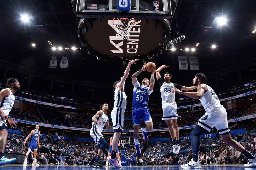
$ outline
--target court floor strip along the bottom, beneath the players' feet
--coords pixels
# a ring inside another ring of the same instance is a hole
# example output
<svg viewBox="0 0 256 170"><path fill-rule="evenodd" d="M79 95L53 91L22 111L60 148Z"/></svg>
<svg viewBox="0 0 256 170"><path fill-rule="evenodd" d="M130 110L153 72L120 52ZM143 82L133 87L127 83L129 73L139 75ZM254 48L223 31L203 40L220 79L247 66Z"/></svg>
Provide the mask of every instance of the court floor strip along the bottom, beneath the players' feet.
<svg viewBox="0 0 256 170"><path fill-rule="evenodd" d="M116 170L113 166L103 167L103 168L92 168L84 165L27 165L23 166L23 164L11 164L11 165L3 165L0 166L0 170ZM171 166L122 166L122 170L181 170L180 166L171 165ZM252 168L244 168L244 165L235 164L235 165L202 165L202 170L256 170L256 167Z"/></svg>

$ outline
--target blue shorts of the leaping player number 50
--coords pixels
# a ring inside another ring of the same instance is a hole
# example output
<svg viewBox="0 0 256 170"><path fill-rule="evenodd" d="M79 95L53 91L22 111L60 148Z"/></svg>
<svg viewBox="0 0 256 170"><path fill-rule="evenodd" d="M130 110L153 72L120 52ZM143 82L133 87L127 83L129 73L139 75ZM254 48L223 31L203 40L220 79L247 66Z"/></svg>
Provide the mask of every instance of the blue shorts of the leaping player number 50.
<svg viewBox="0 0 256 170"><path fill-rule="evenodd" d="M148 107L132 107L133 126L140 125L141 120L145 123L153 122Z"/></svg>

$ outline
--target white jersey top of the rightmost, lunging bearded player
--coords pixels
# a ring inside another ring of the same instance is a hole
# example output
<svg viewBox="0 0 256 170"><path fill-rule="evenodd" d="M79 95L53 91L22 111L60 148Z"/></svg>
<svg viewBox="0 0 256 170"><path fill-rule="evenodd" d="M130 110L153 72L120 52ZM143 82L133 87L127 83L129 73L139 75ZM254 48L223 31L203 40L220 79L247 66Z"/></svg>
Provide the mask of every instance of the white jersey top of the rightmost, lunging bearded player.
<svg viewBox="0 0 256 170"><path fill-rule="evenodd" d="M203 97L201 97L200 102L202 103L204 109L208 113L215 112L216 110L219 110L221 107L223 107L220 104L220 100L217 96L217 94L214 92L214 90L206 85L203 84L208 88L208 91L204 93Z"/></svg>

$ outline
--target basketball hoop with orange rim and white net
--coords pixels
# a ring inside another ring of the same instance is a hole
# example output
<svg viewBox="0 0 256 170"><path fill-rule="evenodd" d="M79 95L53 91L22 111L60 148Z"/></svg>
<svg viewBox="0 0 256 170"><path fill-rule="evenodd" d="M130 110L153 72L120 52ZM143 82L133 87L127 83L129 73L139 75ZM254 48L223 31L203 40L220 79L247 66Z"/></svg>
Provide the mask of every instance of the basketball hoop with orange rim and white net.
<svg viewBox="0 0 256 170"><path fill-rule="evenodd" d="M128 40L130 30L134 24L134 18L113 18L113 25L116 27L116 38L121 40Z"/></svg>

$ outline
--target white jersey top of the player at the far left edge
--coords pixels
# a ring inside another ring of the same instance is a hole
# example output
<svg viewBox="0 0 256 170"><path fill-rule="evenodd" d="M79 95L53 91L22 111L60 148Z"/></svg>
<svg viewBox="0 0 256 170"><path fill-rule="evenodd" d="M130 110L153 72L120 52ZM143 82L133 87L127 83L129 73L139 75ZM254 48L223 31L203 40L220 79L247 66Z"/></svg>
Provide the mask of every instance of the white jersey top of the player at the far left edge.
<svg viewBox="0 0 256 170"><path fill-rule="evenodd" d="M0 103L1 103L0 108L2 109L5 115L9 115L9 112L12 110L12 107L14 105L14 100L15 100L14 94L12 93L11 89L9 90L10 90L10 95L0 100Z"/></svg>

